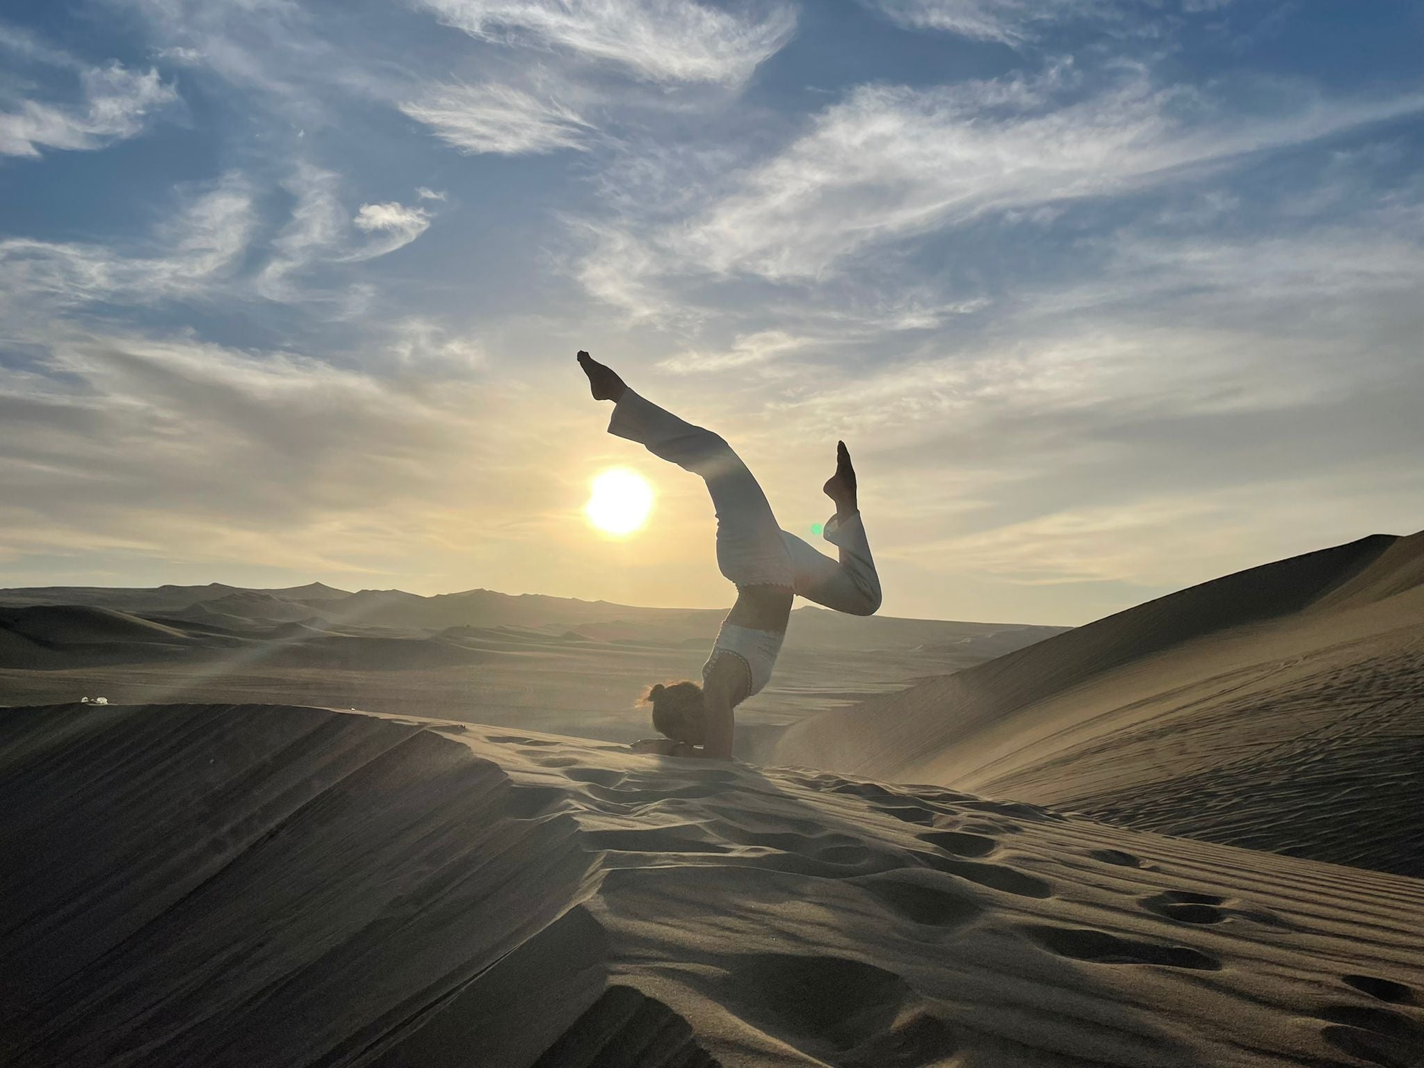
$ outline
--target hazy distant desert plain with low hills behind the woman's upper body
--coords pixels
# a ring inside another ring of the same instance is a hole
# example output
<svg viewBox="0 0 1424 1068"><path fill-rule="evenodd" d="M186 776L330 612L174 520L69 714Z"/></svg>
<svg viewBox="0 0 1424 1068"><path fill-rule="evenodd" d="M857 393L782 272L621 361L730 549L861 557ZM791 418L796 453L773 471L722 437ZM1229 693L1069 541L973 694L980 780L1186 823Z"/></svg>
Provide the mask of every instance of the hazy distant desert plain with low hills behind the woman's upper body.
<svg viewBox="0 0 1424 1068"><path fill-rule="evenodd" d="M696 678L723 615L491 590L352 594L318 582L0 590L0 702L359 703L631 740L649 732L638 695ZM742 706L739 746L1059 631L799 608L776 678Z"/></svg>

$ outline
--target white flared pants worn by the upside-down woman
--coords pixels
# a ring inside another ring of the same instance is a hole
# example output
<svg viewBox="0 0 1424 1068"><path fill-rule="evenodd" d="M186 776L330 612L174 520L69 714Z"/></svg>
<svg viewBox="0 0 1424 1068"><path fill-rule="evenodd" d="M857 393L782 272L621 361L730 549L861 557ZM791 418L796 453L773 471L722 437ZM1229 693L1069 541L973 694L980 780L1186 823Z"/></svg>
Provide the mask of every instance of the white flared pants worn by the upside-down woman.
<svg viewBox="0 0 1424 1068"><path fill-rule="evenodd" d="M880 577L860 513L826 523L823 535L840 560L816 551L776 523L756 478L732 447L711 430L692 426L631 389L614 407L608 433L701 474L716 510L716 562L739 587L775 585L807 601L852 615L880 608Z"/></svg>

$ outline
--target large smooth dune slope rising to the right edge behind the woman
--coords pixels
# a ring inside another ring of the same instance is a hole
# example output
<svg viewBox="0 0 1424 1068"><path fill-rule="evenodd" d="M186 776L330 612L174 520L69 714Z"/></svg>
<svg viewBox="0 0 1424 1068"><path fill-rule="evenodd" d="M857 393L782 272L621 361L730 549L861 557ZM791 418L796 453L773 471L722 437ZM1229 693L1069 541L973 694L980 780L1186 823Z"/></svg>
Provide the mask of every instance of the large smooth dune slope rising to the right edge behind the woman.
<svg viewBox="0 0 1424 1068"><path fill-rule="evenodd" d="M759 758L1424 874L1424 534L1206 582Z"/></svg>

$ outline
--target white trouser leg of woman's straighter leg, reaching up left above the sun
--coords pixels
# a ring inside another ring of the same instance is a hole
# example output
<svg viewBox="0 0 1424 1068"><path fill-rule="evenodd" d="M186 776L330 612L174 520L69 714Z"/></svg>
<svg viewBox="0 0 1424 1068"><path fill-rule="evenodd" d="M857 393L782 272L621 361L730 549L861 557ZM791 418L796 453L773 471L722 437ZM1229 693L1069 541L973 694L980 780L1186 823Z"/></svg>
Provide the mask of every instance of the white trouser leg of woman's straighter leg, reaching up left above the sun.
<svg viewBox="0 0 1424 1068"><path fill-rule="evenodd" d="M701 474L716 510L716 561L739 587L792 587L782 531L762 487L719 436L678 419L631 389L608 422L608 433L638 441L654 456Z"/></svg>

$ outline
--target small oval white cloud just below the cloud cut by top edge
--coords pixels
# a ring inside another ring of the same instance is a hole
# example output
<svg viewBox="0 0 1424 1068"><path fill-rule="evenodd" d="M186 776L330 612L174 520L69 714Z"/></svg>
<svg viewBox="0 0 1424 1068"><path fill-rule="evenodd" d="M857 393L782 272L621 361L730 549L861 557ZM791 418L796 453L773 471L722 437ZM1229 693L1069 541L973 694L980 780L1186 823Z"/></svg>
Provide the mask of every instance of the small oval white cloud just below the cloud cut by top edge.
<svg viewBox="0 0 1424 1068"><path fill-rule="evenodd" d="M400 110L470 155L540 155L584 148L590 128L561 104L498 84L436 85Z"/></svg>

